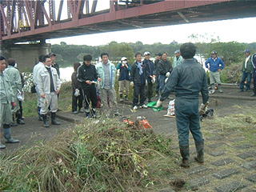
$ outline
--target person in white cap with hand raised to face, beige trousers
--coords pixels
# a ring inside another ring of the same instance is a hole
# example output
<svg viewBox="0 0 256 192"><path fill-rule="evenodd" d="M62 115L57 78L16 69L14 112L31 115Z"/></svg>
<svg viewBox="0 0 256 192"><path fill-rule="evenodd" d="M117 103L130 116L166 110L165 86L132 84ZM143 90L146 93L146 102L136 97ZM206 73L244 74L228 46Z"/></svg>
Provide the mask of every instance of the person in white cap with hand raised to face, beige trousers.
<svg viewBox="0 0 256 192"><path fill-rule="evenodd" d="M118 63L117 70L119 70L119 89L120 102L123 102L123 95L125 95L126 101L128 101L129 87L130 87L130 65L127 62L126 57L121 58L121 62Z"/></svg>

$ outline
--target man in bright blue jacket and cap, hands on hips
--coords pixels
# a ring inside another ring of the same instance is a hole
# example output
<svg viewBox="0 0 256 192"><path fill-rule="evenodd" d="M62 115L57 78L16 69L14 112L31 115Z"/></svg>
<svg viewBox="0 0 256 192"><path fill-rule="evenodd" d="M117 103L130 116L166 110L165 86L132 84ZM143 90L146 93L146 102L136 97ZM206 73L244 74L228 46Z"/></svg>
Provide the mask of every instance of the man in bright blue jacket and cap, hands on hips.
<svg viewBox="0 0 256 192"><path fill-rule="evenodd" d="M205 62L205 65L206 65L206 68L210 70L210 86L212 90L209 93L214 94L215 83L218 85L218 91L220 93L223 93L220 71L223 70L225 64L221 58L217 57L216 50L212 51L211 58L208 58L208 60Z"/></svg>

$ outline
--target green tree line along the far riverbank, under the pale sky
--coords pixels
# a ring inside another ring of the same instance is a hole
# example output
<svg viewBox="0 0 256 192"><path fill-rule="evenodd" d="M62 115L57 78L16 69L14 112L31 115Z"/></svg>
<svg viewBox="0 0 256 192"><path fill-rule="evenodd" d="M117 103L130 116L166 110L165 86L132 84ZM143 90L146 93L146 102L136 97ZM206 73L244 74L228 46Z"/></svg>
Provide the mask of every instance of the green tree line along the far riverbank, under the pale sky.
<svg viewBox="0 0 256 192"><path fill-rule="evenodd" d="M197 36L191 35L191 42L198 47L197 54L202 58L210 58L212 50L218 52L218 57L222 58L226 66L231 63L241 62L244 58L243 50L249 49L251 53L256 52L256 42L240 43L240 42L219 42L212 39L211 42L196 42ZM110 54L111 61L119 61L120 58L126 57L130 63L134 62L134 54L136 52L150 51L151 57L155 54L166 52L169 57L174 57L174 51L178 50L182 43L171 42L170 44L162 44L156 42L154 44L143 44L142 42L126 43L126 42L110 42L104 46L78 46L67 45L66 42L61 42L60 45L54 44L51 47L52 52L57 54L61 66L72 66L74 62L82 61L85 54L91 54L93 58L98 58L102 52Z"/></svg>

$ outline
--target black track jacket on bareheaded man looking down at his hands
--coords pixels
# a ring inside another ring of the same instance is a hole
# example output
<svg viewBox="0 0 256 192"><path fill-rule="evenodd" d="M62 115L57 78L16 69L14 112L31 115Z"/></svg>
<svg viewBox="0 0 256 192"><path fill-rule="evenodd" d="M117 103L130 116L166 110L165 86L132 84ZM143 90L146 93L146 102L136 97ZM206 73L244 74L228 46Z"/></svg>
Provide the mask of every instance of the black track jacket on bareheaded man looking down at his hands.
<svg viewBox="0 0 256 192"><path fill-rule="evenodd" d="M97 81L97 79L98 73L94 65L86 66L84 63L78 68L78 82L81 82L82 89L89 89L91 86L95 86L94 84L88 85L86 81L90 80L92 82Z"/></svg>

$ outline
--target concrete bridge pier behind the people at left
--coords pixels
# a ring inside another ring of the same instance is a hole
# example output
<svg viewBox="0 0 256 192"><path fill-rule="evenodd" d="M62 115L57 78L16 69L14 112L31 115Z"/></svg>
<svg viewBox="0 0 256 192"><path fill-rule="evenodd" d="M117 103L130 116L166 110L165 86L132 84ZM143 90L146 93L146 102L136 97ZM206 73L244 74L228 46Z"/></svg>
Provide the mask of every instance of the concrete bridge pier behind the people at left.
<svg viewBox="0 0 256 192"><path fill-rule="evenodd" d="M14 58L19 70L31 71L40 54L50 53L50 43L40 41L38 43L10 44L0 41L0 55Z"/></svg>

